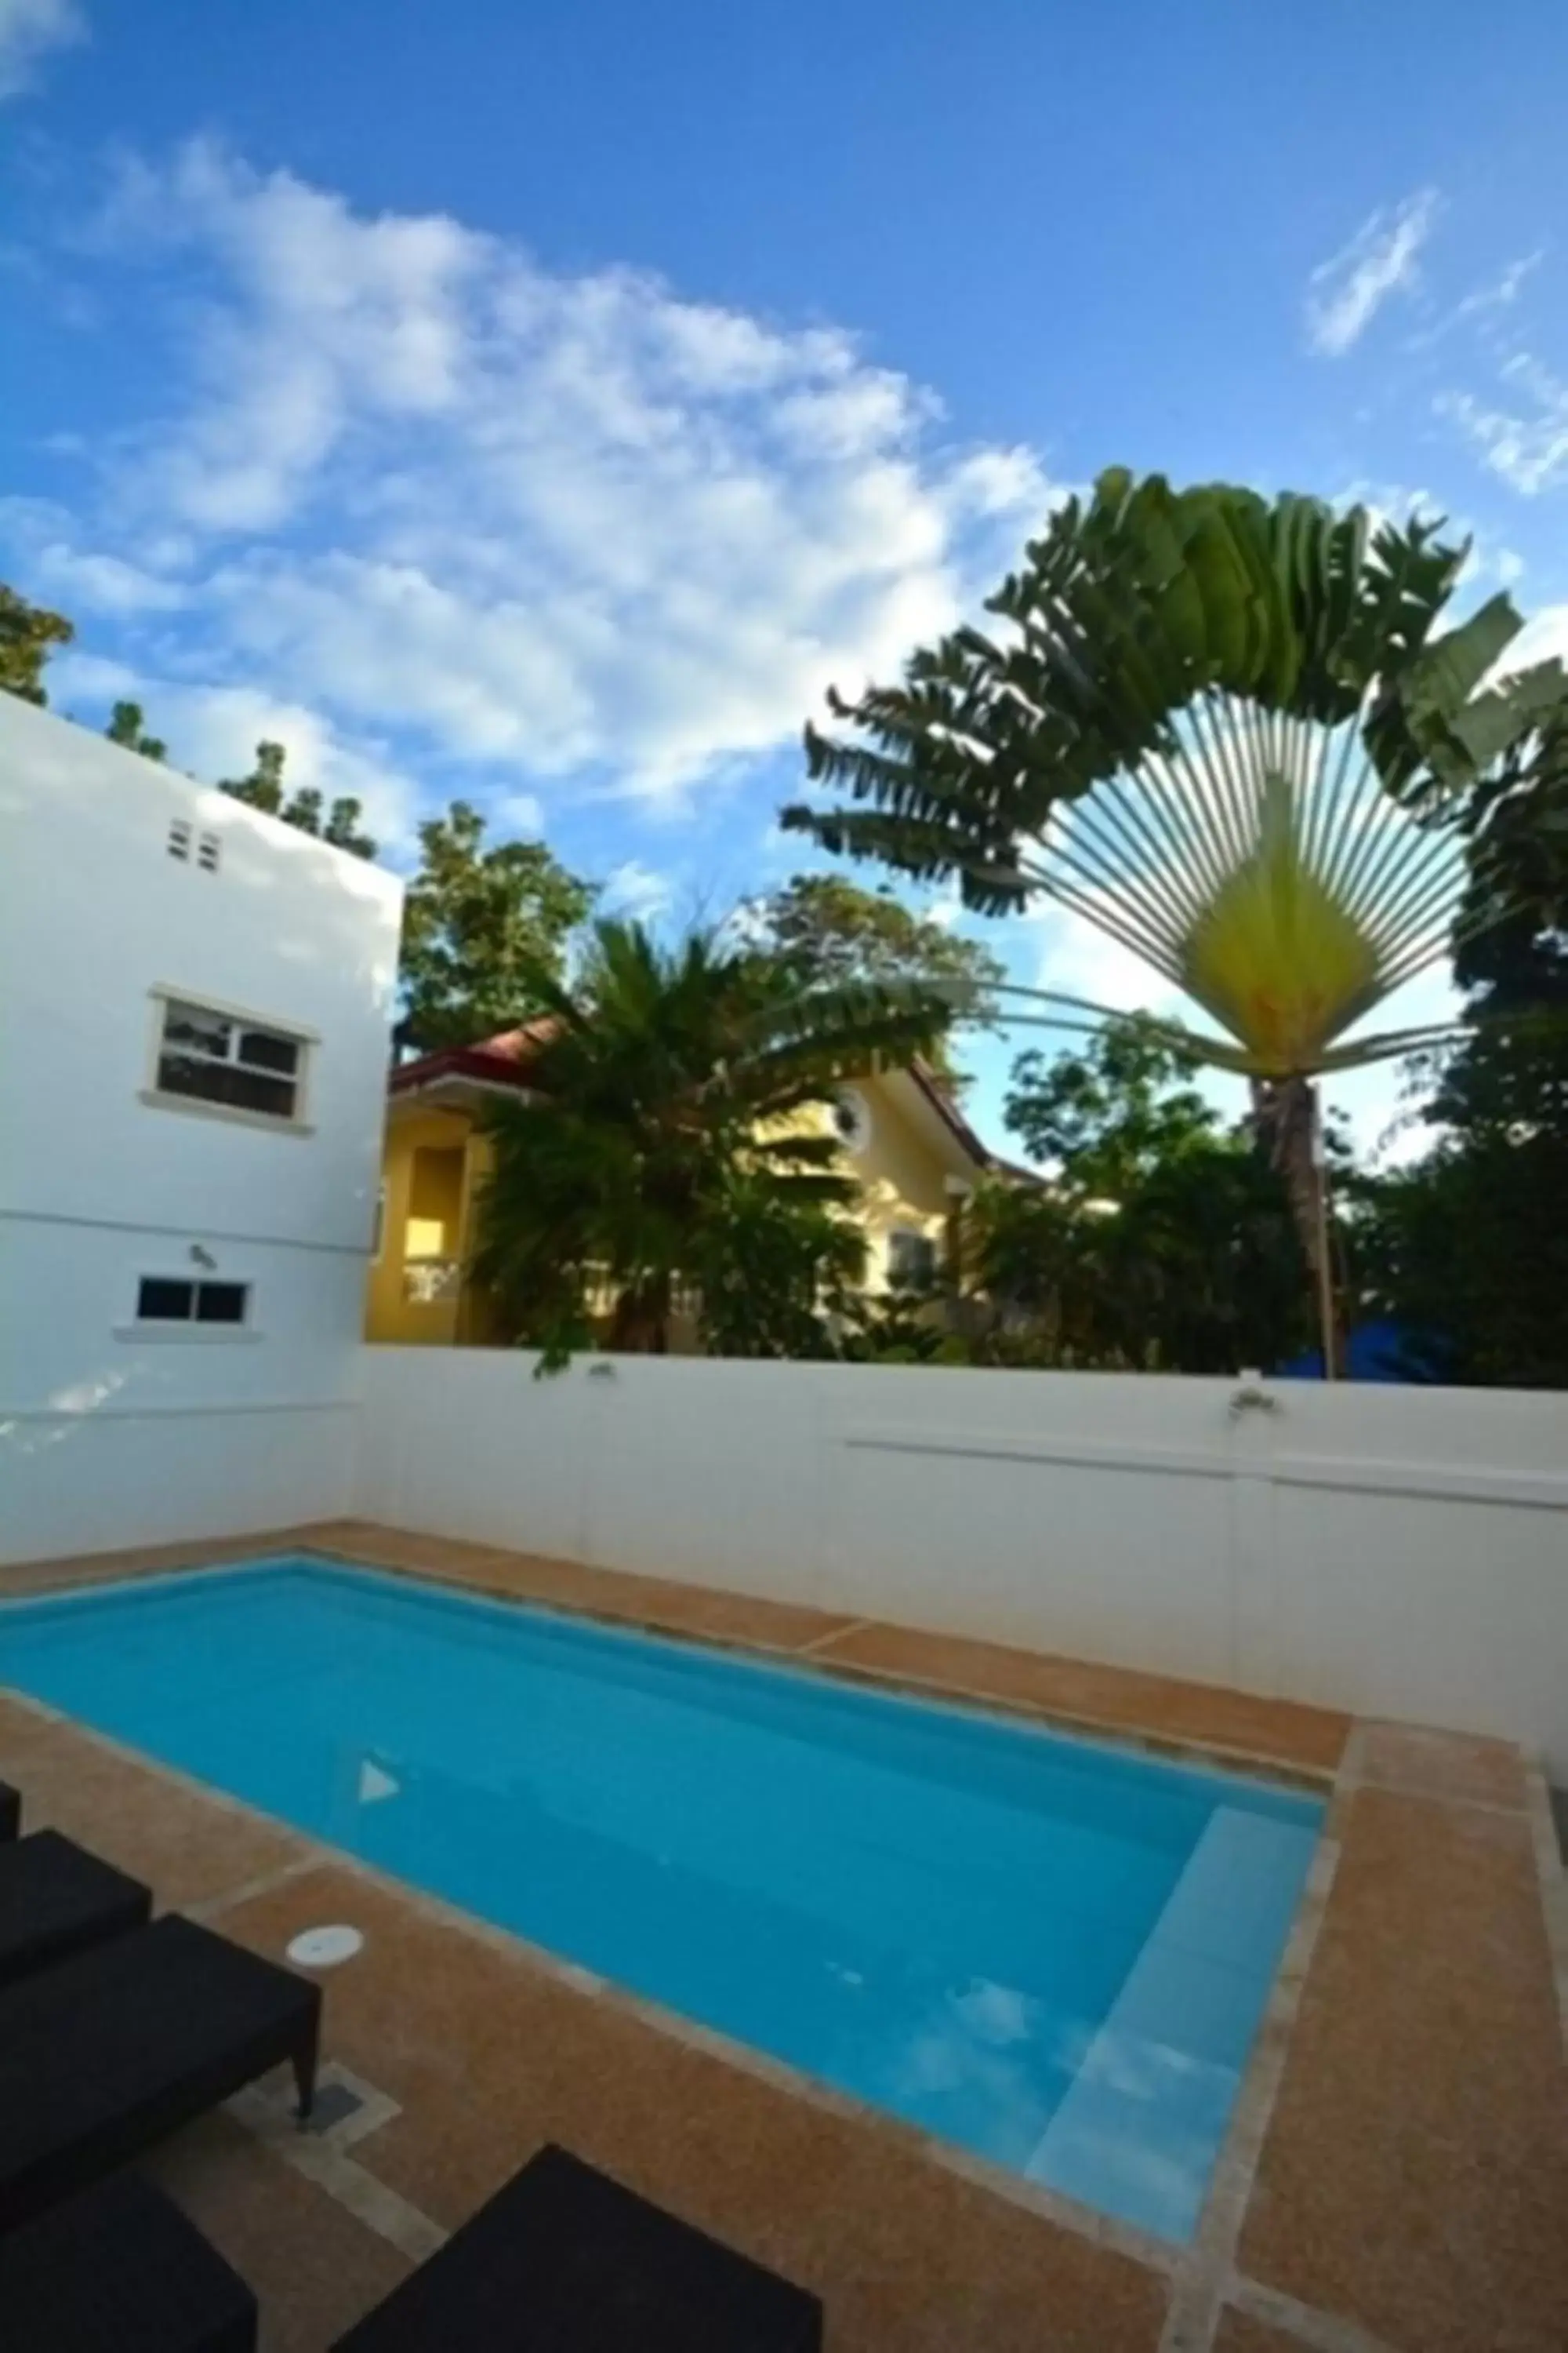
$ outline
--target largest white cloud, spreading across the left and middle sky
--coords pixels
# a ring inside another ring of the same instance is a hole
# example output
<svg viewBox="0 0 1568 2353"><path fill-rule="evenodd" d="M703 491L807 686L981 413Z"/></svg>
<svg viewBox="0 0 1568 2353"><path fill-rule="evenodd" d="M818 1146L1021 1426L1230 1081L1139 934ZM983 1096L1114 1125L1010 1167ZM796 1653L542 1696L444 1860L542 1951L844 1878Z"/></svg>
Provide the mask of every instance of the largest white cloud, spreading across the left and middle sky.
<svg viewBox="0 0 1568 2353"><path fill-rule="evenodd" d="M150 273L176 398L54 560L146 569L155 536L188 668L496 781L684 805L950 626L1053 496L835 327L550 273L212 144L129 169L96 249Z"/></svg>

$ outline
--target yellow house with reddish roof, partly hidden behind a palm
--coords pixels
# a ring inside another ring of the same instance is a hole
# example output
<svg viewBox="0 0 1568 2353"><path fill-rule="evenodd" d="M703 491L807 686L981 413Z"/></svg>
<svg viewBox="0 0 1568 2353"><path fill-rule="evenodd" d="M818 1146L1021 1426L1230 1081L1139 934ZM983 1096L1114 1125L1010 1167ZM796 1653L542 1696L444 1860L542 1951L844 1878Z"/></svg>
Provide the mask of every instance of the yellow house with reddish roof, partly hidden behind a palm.
<svg viewBox="0 0 1568 2353"><path fill-rule="evenodd" d="M508 1031L393 1071L367 1339L482 1346L501 1337L465 1268L489 1167L482 1111L527 1094L527 1031ZM867 1289L940 1273L964 1200L999 1162L924 1064L844 1087L832 1120L860 1184Z"/></svg>

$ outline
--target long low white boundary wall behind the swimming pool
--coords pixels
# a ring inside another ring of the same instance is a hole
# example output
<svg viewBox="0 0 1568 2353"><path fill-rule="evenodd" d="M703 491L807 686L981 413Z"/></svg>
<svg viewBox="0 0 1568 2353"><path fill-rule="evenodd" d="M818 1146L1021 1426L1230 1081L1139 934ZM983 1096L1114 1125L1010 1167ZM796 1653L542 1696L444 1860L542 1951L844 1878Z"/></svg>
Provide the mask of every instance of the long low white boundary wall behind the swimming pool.
<svg viewBox="0 0 1568 2353"><path fill-rule="evenodd" d="M1542 1746L1568 1400L369 1348L357 1508L569 1560Z"/></svg>

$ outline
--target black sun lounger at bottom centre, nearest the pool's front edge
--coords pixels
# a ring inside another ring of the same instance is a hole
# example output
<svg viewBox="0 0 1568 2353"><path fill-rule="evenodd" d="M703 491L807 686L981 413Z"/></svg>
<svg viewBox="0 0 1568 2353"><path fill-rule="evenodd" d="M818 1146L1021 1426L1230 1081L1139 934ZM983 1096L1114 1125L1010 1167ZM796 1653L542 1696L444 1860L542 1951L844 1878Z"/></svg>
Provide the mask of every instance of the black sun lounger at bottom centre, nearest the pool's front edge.
<svg viewBox="0 0 1568 2353"><path fill-rule="evenodd" d="M564 2148L541 2153L336 2353L818 2353L823 2306Z"/></svg>

